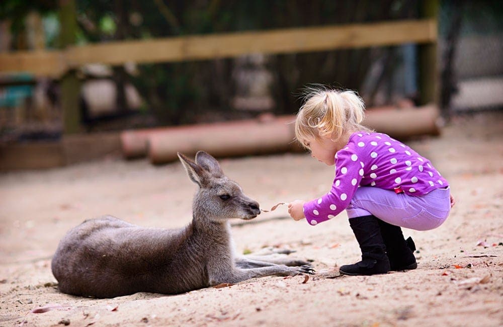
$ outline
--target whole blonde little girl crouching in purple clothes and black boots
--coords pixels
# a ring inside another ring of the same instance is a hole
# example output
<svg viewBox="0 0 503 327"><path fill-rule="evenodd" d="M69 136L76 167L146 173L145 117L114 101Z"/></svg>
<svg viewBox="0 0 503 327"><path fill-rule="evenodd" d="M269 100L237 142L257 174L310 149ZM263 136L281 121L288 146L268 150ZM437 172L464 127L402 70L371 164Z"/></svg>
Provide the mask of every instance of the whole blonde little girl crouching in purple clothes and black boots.
<svg viewBox="0 0 503 327"><path fill-rule="evenodd" d="M288 204L295 220L311 225L346 209L362 250L362 261L345 265L346 275L384 274L417 267L411 238L401 227L440 226L454 199L430 160L407 145L362 126L364 104L352 91L313 90L295 121L297 140L311 156L336 166L330 191Z"/></svg>

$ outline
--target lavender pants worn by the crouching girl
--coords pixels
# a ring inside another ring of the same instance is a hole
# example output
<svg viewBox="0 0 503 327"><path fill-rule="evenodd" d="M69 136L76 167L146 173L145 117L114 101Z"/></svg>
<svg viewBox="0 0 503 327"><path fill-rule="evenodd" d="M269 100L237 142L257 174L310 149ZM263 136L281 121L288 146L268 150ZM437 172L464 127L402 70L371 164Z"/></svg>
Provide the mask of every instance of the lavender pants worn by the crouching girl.
<svg viewBox="0 0 503 327"><path fill-rule="evenodd" d="M392 225L429 230L440 226L451 210L450 190L436 189L422 196L359 187L346 208L348 217L374 215Z"/></svg>

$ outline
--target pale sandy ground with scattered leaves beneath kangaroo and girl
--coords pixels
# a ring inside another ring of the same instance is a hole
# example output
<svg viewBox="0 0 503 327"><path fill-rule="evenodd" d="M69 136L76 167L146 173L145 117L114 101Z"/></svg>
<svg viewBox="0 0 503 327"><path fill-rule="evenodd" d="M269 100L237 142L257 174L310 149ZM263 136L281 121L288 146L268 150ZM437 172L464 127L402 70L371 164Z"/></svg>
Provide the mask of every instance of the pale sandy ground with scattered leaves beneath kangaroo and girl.
<svg viewBox="0 0 503 327"><path fill-rule="evenodd" d="M0 326L12 325L503 325L503 114L456 117L438 138L409 141L451 183L457 204L439 228L412 235L418 268L340 276L358 261L345 213L318 226L287 217L285 206L233 226L238 253L266 246L297 250L317 274L265 277L176 296L137 293L81 298L57 290L50 260L82 220L112 214L154 227L191 219L195 185L179 162L110 157L42 172L0 175ZM307 154L222 159L224 172L263 208L312 199L333 168ZM50 305L52 310L33 313Z"/></svg>

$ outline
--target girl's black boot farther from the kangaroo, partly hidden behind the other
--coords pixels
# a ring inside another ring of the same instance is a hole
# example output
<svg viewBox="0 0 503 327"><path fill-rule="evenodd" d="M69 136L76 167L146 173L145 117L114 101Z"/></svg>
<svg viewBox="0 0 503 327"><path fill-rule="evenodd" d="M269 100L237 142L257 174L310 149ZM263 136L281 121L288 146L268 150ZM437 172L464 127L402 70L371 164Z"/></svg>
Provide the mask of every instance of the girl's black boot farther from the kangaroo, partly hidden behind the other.
<svg viewBox="0 0 503 327"><path fill-rule="evenodd" d="M415 244L411 237L403 239L400 226L377 220L381 228L381 236L386 245L391 270L412 270L417 268L413 251Z"/></svg>

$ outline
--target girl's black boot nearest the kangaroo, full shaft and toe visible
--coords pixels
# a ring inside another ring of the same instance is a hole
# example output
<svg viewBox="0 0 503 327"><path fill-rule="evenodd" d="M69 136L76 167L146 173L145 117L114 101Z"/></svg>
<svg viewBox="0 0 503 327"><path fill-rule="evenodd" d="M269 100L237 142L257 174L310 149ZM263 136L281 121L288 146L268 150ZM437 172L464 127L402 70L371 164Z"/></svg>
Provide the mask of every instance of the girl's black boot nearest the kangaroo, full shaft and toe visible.
<svg viewBox="0 0 503 327"><path fill-rule="evenodd" d="M372 215L349 219L351 229L362 250L362 261L354 265L341 266L339 269L341 274L375 275L386 274L390 270L378 220Z"/></svg>

